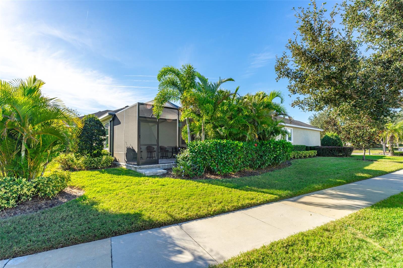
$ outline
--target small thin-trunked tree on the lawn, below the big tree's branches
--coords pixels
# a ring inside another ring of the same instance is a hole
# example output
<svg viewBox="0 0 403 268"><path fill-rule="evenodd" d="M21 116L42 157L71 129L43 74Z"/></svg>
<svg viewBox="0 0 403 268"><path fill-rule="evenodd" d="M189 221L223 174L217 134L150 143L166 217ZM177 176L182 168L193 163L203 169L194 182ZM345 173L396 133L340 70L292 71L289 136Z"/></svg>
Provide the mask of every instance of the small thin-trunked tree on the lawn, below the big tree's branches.
<svg viewBox="0 0 403 268"><path fill-rule="evenodd" d="M380 130L369 116L363 116L359 120L349 120L342 127L342 138L351 142L353 146L362 149L362 160L365 160L367 149L375 146Z"/></svg>

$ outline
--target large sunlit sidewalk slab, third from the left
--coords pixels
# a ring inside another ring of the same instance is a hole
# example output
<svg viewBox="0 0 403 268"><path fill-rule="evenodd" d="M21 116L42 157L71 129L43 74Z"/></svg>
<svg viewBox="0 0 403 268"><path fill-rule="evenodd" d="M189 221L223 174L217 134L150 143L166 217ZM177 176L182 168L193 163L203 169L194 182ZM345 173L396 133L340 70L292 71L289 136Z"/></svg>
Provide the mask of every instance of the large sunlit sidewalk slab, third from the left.
<svg viewBox="0 0 403 268"><path fill-rule="evenodd" d="M180 223L179 226L217 262L290 235L241 211Z"/></svg>

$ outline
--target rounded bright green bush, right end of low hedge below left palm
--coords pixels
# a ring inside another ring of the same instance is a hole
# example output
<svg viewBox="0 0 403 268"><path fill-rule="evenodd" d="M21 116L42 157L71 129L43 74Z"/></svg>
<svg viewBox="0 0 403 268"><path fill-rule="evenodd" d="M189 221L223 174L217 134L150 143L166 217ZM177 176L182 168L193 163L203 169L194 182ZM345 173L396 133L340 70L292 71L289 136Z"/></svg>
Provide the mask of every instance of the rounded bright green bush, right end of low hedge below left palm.
<svg viewBox="0 0 403 268"><path fill-rule="evenodd" d="M37 177L32 180L35 192L39 197L53 198L60 193L70 181L67 171L53 171L46 177Z"/></svg>

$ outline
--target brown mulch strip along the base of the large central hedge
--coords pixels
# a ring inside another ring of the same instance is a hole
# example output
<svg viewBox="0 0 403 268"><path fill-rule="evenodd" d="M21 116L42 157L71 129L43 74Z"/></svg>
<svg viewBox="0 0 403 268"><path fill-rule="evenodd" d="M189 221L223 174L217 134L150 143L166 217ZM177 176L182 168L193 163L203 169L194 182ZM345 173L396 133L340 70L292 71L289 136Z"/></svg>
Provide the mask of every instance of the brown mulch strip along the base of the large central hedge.
<svg viewBox="0 0 403 268"><path fill-rule="evenodd" d="M216 173L206 173L202 176L197 176L193 177L191 179L231 179L231 178L239 178L239 177L247 177L247 176L255 176L255 175L260 175L262 173L274 171L276 169L283 169L285 167L291 166L291 161L285 161L279 165L276 166L270 166L266 167L264 169L256 169L256 170L241 170L238 171L237 173L230 173L230 174L225 174L225 175L218 175ZM182 177L177 177L172 173L172 169L166 169L166 173L163 175L160 175L160 177L170 177L170 178L180 178L183 179Z"/></svg>

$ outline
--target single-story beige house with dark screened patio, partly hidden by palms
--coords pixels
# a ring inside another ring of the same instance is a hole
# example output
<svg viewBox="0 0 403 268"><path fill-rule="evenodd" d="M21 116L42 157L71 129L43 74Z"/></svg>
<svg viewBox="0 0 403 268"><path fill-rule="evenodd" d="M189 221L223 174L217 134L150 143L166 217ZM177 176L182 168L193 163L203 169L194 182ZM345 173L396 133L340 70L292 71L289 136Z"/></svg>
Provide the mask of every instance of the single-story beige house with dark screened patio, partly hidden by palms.
<svg viewBox="0 0 403 268"><path fill-rule="evenodd" d="M157 120L152 112L153 103L135 103L94 113L108 130L106 146L116 164L131 169L145 165L168 168L175 163L174 155L179 148L186 147L185 140L181 138L181 128L185 123L179 120L179 107L171 102L165 103ZM321 129L297 120L281 119L289 132L286 140L292 144L320 145Z"/></svg>

